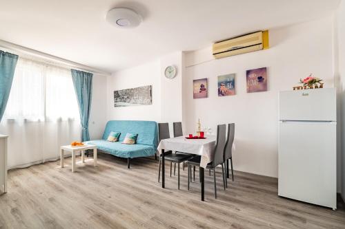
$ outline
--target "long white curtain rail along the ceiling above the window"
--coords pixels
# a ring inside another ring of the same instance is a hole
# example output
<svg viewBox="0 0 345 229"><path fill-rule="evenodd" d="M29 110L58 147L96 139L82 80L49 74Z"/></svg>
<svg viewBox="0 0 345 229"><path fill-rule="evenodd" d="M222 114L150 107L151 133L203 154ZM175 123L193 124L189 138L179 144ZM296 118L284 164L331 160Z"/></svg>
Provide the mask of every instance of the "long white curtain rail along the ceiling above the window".
<svg viewBox="0 0 345 229"><path fill-rule="evenodd" d="M16 44L10 43L8 41L0 40L0 47L3 47L5 49L8 49L8 50L13 51L13 52L18 52L17 54L19 54L19 56L21 56L21 54L22 54L22 55L24 55L24 57L25 57L25 55L28 55L28 56L43 58L46 61L50 61L50 63L52 63L53 65L57 65L60 67L75 68L75 69L83 70L86 72L92 72L94 74L103 75L103 76L110 76L111 75L109 72L104 72L104 71L97 69L97 68L94 68L94 67L89 67L87 65L81 65L81 64L73 62L73 61L68 61L64 58L52 56L50 54L46 54L44 52L39 52L37 50L32 50L28 47L16 45Z"/></svg>

